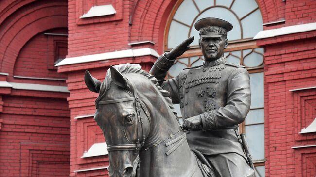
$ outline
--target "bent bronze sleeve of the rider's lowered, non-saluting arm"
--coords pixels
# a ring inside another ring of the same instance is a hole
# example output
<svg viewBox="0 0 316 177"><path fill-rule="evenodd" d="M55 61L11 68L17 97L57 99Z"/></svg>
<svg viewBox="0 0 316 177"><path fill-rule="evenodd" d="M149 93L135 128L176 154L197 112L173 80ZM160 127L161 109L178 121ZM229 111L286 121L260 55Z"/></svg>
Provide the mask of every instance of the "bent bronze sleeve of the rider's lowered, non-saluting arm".
<svg viewBox="0 0 316 177"><path fill-rule="evenodd" d="M228 77L225 107L200 114L203 130L220 129L242 123L250 109L250 78L246 69L238 67Z"/></svg>

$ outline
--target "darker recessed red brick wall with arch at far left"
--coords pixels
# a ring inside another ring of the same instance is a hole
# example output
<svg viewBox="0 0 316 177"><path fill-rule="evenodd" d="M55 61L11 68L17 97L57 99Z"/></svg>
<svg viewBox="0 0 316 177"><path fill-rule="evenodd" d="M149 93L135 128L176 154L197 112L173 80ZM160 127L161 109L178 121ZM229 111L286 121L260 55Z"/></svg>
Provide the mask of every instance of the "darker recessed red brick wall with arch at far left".
<svg viewBox="0 0 316 177"><path fill-rule="evenodd" d="M54 41L67 43L67 36L44 32L67 34L66 0L0 1L0 72L7 73L0 74L1 81L66 86L66 75L49 66ZM64 92L0 88L0 177L69 175L67 97Z"/></svg>

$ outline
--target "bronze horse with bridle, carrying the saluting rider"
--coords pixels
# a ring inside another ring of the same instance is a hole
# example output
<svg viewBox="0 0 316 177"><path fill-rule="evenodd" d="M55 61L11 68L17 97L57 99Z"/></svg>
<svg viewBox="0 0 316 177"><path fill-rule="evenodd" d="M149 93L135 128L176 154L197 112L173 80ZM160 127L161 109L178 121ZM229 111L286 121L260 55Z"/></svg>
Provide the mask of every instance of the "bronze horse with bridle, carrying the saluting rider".
<svg viewBox="0 0 316 177"><path fill-rule="evenodd" d="M94 120L109 152L110 177L211 177L190 151L169 92L139 64L111 66L101 83L88 70L85 83L99 93Z"/></svg>

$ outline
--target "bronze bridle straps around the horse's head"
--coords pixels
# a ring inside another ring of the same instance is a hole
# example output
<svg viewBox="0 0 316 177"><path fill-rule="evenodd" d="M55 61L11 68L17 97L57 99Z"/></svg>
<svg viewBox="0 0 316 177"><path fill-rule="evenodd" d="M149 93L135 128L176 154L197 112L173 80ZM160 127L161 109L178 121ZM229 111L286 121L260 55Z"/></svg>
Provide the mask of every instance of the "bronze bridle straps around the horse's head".
<svg viewBox="0 0 316 177"><path fill-rule="evenodd" d="M147 108L145 107L144 103L140 100L138 94L136 91L133 93L134 97L127 97L127 98L121 98L121 99L112 99L112 100L106 100L106 101L99 101L97 105L100 104L113 104L113 103L121 103L125 101L134 101L136 105L136 114L137 114L137 141L134 144L117 144L117 145L108 145L107 151L122 151L122 150L134 150L135 154L140 151L141 148L145 146L146 136L143 129L143 118L141 117L141 110L144 111L144 113L147 116L147 119L150 123L150 114L148 113ZM142 132L142 142L140 143L139 140L139 125L141 126L141 132Z"/></svg>

